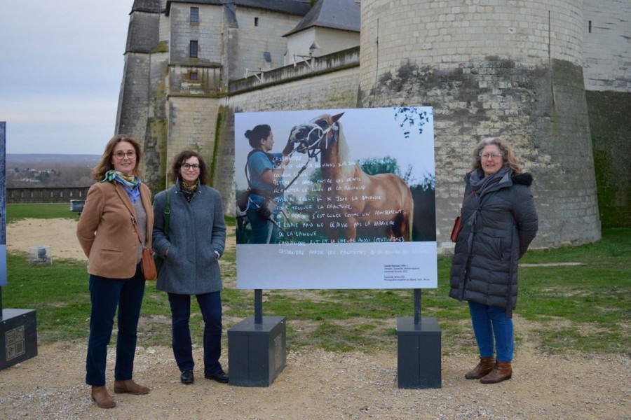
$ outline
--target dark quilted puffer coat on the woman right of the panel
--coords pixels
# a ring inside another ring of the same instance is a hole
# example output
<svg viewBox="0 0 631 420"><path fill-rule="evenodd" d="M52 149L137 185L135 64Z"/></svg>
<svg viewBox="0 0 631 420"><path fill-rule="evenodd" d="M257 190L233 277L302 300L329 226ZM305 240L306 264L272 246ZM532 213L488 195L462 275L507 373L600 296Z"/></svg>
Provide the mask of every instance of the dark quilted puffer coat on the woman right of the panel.
<svg viewBox="0 0 631 420"><path fill-rule="evenodd" d="M538 230L532 176L508 172L481 196L471 194L469 176L449 296L505 308L510 318L517 305L517 262Z"/></svg>

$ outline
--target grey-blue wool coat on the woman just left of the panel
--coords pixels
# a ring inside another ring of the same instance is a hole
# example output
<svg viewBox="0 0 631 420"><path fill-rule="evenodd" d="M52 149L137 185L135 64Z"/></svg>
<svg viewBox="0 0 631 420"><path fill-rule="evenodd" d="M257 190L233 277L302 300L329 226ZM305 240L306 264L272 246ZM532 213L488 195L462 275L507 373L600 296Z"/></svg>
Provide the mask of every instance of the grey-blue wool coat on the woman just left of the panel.
<svg viewBox="0 0 631 420"><path fill-rule="evenodd" d="M226 223L219 192L199 186L186 201L179 181L170 194L169 236L164 235L166 192L154 198L154 252L164 257L156 289L179 295L201 295L222 290L222 276L215 251L226 245Z"/></svg>

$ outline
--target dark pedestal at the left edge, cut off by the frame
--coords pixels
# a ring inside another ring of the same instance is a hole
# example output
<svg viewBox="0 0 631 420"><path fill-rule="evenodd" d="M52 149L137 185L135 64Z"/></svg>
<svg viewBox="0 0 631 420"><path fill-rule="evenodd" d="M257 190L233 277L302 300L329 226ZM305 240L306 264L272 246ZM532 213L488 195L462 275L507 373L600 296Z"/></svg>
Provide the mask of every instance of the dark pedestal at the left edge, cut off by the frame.
<svg viewBox="0 0 631 420"><path fill-rule="evenodd" d="M0 319L0 370L37 356L34 309L4 309Z"/></svg>

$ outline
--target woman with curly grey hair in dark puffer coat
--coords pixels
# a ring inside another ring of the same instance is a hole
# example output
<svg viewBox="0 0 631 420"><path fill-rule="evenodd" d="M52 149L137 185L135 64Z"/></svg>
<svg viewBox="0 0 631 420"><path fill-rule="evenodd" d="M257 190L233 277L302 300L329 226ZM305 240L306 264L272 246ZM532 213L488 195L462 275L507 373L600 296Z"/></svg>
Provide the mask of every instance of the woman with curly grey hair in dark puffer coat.
<svg viewBox="0 0 631 420"><path fill-rule="evenodd" d="M466 379L494 384L513 375L517 262L536 235L538 219L532 176L522 173L506 141L482 139L472 169L465 176L449 296L468 301L480 351L480 363Z"/></svg>

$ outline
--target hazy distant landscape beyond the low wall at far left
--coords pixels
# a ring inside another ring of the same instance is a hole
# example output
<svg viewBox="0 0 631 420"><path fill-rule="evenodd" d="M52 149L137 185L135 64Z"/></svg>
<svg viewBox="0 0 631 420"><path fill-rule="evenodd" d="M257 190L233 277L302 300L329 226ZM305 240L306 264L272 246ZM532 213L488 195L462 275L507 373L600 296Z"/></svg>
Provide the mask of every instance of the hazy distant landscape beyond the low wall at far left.
<svg viewBox="0 0 631 420"><path fill-rule="evenodd" d="M6 188L86 187L100 155L7 153Z"/></svg>

